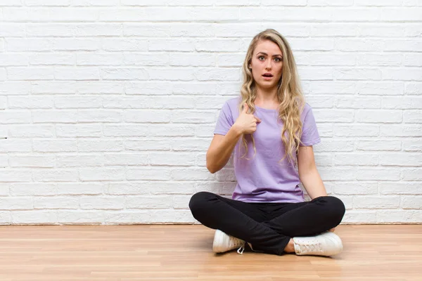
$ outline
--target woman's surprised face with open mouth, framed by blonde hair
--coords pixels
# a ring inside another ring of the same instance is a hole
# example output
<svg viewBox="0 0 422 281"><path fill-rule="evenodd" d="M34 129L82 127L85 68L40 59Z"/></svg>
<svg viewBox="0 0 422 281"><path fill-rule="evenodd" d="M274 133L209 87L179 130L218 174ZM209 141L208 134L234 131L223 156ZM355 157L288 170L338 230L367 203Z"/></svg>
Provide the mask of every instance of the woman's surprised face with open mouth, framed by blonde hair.
<svg viewBox="0 0 422 281"><path fill-rule="evenodd" d="M252 76L258 87L271 89L277 86L281 79L283 68L283 53L279 45L273 41L259 41L250 61Z"/></svg>

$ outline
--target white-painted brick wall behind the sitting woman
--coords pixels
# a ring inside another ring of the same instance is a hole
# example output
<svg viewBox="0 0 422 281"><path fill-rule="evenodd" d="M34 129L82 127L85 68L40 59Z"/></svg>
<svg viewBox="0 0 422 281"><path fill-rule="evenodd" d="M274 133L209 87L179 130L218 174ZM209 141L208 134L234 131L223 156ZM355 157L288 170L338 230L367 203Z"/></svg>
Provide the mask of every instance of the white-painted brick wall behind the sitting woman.
<svg viewBox="0 0 422 281"><path fill-rule="evenodd" d="M193 223L253 35L290 42L343 223L422 223L422 2L0 1L0 224Z"/></svg>

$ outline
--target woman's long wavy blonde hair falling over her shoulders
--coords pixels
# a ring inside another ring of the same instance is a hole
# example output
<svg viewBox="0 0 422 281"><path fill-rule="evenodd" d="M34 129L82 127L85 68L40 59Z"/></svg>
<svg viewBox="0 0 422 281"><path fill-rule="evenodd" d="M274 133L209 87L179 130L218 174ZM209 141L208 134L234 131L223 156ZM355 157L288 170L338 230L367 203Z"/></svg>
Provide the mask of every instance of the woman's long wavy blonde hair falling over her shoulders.
<svg viewBox="0 0 422 281"><path fill-rule="evenodd" d="M296 153L299 149L300 136L302 136L302 122L300 114L305 107L305 97L302 95L300 87L300 79L298 70L296 69L295 58L293 52L288 44L288 41L276 30L268 29L260 32L253 37L250 42L248 51L246 53L245 61L243 62L243 84L241 87L241 103L239 104L239 112L243 110L243 104L247 103L249 113L255 112L255 98L257 98L257 91L255 80L252 76L252 70L249 68L252 60L253 52L258 42L269 40L277 44L283 53L283 68L281 70L281 79L277 86L277 98L279 100L279 119L283 122L283 129L281 130L281 141L283 141L285 148L284 158L288 158L288 162L297 165ZM286 136L287 135L287 136ZM254 156L256 154L255 140L252 138L252 145L254 149ZM244 157L248 153L248 142L245 135L242 136L243 148L245 148ZM295 155L293 156L293 153ZM283 159L280 160L283 161Z"/></svg>

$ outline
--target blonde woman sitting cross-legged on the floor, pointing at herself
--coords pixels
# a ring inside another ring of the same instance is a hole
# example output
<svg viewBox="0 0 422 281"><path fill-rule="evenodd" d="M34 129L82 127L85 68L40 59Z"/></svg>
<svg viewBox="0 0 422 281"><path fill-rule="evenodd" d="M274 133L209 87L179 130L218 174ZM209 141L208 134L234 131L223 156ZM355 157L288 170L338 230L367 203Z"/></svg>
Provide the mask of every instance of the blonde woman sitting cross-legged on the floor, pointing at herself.
<svg viewBox="0 0 422 281"><path fill-rule="evenodd" d="M264 30L251 41L243 63L241 96L222 107L207 151L207 169L222 169L234 152L237 179L232 199L198 192L193 217L216 229L217 253L247 243L252 251L331 256L343 244L333 233L345 214L327 196L312 145L319 143L312 108L305 103L295 59L286 39ZM302 185L311 197L305 202Z"/></svg>

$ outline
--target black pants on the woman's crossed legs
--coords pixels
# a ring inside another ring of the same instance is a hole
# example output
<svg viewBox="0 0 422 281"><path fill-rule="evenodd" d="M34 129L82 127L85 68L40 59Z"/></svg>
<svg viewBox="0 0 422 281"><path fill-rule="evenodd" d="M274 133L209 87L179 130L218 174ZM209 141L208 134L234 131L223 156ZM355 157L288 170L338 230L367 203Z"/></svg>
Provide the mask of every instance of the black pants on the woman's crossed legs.
<svg viewBox="0 0 422 281"><path fill-rule="evenodd" d="M291 237L323 233L338 226L345 214L343 202L332 196L300 203L246 203L198 192L189 208L204 226L249 242L256 251L278 255Z"/></svg>

